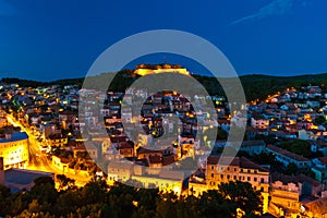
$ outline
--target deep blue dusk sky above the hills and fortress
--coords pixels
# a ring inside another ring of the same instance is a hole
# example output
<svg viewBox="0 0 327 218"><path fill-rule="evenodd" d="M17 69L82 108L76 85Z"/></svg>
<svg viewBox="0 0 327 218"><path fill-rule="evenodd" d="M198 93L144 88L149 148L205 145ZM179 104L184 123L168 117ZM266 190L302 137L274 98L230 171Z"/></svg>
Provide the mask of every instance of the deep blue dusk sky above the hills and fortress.
<svg viewBox="0 0 327 218"><path fill-rule="evenodd" d="M110 45L158 28L206 38L241 75L327 72L326 9L326 0L0 0L0 77L81 77Z"/></svg>

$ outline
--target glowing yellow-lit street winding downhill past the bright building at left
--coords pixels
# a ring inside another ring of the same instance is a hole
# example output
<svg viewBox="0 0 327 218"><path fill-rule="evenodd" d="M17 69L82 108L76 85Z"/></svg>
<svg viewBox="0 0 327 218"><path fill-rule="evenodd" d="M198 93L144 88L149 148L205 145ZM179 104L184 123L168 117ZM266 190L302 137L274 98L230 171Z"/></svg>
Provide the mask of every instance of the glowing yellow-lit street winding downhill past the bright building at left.
<svg viewBox="0 0 327 218"><path fill-rule="evenodd" d="M27 169L38 170L45 172L53 172L55 174L62 174L62 171L58 168L55 168L51 165L51 160L48 160L47 156L43 154L39 149L41 143L37 141L37 136L33 134L33 131L29 128L23 126L17 120L15 120L11 114L7 114L7 120L13 126L20 126L22 131L26 132L28 135L28 154L29 162ZM84 186L89 178L83 175L76 175L72 173L64 173L68 178L75 180L77 186Z"/></svg>

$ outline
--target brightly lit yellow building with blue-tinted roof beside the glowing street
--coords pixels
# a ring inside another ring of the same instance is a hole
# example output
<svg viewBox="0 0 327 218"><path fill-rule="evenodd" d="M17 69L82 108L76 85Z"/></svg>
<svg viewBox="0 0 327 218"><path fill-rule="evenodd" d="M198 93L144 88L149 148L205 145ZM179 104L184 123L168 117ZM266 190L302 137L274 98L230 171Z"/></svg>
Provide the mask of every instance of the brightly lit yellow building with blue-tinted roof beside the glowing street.
<svg viewBox="0 0 327 218"><path fill-rule="evenodd" d="M4 170L26 168L28 164L28 135L25 132L5 134L0 138L0 157L3 157Z"/></svg>

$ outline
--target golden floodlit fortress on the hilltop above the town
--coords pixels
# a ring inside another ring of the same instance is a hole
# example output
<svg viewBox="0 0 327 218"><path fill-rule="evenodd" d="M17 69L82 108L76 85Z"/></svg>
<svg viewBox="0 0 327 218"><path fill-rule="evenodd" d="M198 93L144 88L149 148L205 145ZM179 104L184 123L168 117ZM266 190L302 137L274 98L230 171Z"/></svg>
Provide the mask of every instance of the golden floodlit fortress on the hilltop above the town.
<svg viewBox="0 0 327 218"><path fill-rule="evenodd" d="M190 72L182 68L181 65L172 65L172 64L140 64L136 65L135 74L138 75L149 75L149 74L158 74L158 73L180 73L183 75L190 75Z"/></svg>

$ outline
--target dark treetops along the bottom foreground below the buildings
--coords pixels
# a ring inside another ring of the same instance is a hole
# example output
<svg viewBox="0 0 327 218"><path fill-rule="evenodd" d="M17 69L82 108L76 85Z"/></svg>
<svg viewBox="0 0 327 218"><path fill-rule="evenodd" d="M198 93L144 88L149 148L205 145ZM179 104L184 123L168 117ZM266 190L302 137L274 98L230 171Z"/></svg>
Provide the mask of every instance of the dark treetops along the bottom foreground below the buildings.
<svg viewBox="0 0 327 218"><path fill-rule="evenodd" d="M136 189L121 183L108 186L102 180L76 187L60 179L61 191L51 178L37 178L31 191L11 193L0 184L0 217L110 217L110 218L201 218L256 217L262 196L250 183L229 182L201 197L177 196L158 190Z"/></svg>

